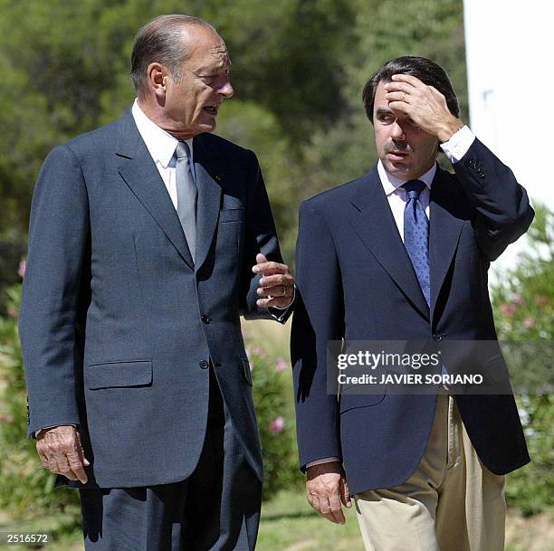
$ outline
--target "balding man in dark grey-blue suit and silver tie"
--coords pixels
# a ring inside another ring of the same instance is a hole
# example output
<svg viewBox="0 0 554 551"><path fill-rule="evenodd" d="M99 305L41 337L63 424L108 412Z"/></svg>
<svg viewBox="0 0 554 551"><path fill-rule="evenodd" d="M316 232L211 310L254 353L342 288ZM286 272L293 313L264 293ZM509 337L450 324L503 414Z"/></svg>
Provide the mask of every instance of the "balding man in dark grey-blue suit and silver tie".
<svg viewBox="0 0 554 551"><path fill-rule="evenodd" d="M239 317L284 322L292 277L255 155L209 134L233 94L224 41L164 15L131 62L132 109L55 147L33 195L29 435L80 488L88 551L252 551L263 466Z"/></svg>

